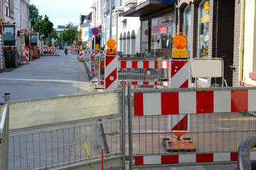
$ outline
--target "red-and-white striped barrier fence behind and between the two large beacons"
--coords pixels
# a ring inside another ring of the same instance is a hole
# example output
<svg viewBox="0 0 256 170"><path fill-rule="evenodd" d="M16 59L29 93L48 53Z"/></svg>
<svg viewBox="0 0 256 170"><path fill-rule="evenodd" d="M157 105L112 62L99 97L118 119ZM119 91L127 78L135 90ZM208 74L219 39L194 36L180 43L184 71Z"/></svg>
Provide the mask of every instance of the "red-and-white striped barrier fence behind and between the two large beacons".
<svg viewBox="0 0 256 170"><path fill-rule="evenodd" d="M95 69L98 84L104 84L105 57L97 57ZM134 86L169 86L169 61L155 58L121 57L118 61L118 79Z"/></svg>

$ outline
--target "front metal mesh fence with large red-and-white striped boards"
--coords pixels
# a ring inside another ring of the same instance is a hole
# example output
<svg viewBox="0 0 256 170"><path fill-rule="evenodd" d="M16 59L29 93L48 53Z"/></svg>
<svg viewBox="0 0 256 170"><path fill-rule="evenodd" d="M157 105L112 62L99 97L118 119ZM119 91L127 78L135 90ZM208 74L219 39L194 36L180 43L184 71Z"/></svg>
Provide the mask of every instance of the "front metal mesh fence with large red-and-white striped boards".
<svg viewBox="0 0 256 170"><path fill-rule="evenodd" d="M129 84L129 169L235 163L240 142L256 135L255 100L256 87L131 89ZM184 114L190 119L181 120ZM170 127L188 132L178 138Z"/></svg>

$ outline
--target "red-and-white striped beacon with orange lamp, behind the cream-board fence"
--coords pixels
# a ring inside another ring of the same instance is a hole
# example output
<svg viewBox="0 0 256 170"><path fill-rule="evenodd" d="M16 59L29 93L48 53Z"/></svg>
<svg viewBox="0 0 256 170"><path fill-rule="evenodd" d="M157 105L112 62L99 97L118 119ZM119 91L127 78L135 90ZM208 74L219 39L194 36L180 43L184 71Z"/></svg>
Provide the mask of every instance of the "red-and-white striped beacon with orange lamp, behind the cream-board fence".
<svg viewBox="0 0 256 170"><path fill-rule="evenodd" d="M118 57L115 50L115 40L107 40L105 55L105 91L114 91L118 87Z"/></svg>

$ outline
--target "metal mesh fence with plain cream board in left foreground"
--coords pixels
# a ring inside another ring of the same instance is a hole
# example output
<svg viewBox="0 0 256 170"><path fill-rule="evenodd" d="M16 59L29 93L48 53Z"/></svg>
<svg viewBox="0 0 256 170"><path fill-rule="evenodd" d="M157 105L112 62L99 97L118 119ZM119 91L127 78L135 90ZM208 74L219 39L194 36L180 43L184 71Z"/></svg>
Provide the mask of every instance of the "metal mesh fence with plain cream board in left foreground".
<svg viewBox="0 0 256 170"><path fill-rule="evenodd" d="M124 167L124 89L10 102L9 112L9 169L90 169L87 153L94 169L102 156L105 169Z"/></svg>

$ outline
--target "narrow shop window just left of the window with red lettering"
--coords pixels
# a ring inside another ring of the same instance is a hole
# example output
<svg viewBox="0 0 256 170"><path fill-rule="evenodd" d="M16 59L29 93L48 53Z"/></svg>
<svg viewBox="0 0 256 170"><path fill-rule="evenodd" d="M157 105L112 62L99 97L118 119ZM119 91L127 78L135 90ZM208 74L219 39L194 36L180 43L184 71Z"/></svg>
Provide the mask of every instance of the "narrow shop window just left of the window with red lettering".
<svg viewBox="0 0 256 170"><path fill-rule="evenodd" d="M148 55L148 42L149 42L149 22L142 21L142 57Z"/></svg>

